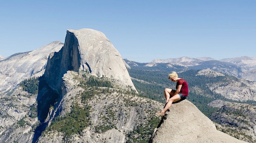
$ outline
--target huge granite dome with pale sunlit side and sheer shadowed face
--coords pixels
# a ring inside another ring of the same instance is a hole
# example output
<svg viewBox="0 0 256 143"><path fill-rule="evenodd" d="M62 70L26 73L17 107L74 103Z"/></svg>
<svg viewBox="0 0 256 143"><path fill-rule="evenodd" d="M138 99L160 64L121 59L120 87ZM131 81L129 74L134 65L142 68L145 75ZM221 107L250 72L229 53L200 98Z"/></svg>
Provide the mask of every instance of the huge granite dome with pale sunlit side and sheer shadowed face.
<svg viewBox="0 0 256 143"><path fill-rule="evenodd" d="M136 90L120 53L103 33L93 29L67 31L63 48L49 57L45 80L60 93L63 74L68 70L89 71L93 76L116 79Z"/></svg>

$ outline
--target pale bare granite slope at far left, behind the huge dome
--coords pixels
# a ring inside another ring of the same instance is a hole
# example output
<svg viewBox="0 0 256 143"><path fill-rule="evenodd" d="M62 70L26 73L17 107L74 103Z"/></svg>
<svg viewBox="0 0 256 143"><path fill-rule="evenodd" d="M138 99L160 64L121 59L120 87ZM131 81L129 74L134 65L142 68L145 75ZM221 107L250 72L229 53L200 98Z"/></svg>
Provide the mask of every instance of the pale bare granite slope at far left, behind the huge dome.
<svg viewBox="0 0 256 143"><path fill-rule="evenodd" d="M0 92L10 92L31 76L42 76L50 53L59 51L63 43L52 42L31 52L17 53L0 61Z"/></svg>

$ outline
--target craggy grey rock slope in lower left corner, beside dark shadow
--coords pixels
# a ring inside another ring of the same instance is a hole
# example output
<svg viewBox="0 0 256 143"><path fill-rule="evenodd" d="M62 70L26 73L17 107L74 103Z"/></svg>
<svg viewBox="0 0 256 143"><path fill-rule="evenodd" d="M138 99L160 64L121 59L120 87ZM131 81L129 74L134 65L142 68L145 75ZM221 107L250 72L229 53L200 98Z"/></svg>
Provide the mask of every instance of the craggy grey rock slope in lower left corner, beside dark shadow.
<svg viewBox="0 0 256 143"><path fill-rule="evenodd" d="M17 140L25 143L33 138L33 126L36 126L36 96L17 88L8 96L0 96L0 143L13 143Z"/></svg>

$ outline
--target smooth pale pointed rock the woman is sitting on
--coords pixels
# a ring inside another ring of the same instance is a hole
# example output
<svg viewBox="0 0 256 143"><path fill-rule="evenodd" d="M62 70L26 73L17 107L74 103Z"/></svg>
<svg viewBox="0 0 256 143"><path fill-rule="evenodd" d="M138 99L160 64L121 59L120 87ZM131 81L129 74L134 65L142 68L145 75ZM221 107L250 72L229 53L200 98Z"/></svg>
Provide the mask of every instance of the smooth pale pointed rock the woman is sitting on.
<svg viewBox="0 0 256 143"><path fill-rule="evenodd" d="M173 104L151 136L150 143L245 143L218 131L197 107L184 100Z"/></svg>

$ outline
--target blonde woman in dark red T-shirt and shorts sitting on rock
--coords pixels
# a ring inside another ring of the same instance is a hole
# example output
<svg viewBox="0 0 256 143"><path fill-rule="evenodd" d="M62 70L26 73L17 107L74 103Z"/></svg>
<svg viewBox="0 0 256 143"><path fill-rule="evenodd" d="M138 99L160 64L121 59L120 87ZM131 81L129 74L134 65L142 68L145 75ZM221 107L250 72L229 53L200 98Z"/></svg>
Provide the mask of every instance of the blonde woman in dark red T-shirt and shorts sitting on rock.
<svg viewBox="0 0 256 143"><path fill-rule="evenodd" d="M177 82L176 90L165 88L166 103L163 110L160 113L156 113L157 115L165 115L165 112L171 107L172 103L178 103L188 97L188 84L185 80L178 78L178 74L176 72L169 74L169 80Z"/></svg>

